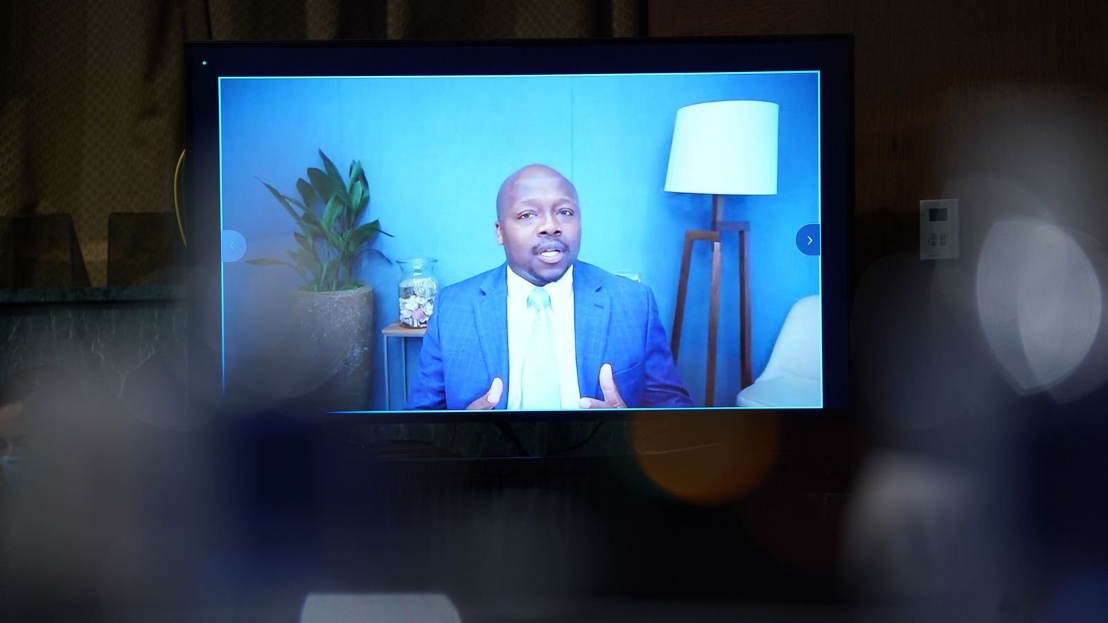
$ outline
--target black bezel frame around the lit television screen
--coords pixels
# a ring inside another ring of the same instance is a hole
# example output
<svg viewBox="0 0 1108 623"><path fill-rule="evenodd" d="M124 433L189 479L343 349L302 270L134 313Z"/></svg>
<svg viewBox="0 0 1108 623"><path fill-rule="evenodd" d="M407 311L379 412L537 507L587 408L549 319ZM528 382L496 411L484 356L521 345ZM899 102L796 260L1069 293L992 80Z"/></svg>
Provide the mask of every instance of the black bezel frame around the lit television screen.
<svg viewBox="0 0 1108 623"><path fill-rule="evenodd" d="M510 51L512 53L505 53ZM676 52L676 53L675 53ZM730 52L721 54L714 52ZM736 52L741 52L735 55ZM667 55L668 53L668 55ZM848 415L853 408L849 356L849 308L853 299L854 221L854 39L852 34L618 38L618 39L515 39L461 41L188 41L185 43L185 163L182 172L183 222L187 236L188 385L194 405L212 404L211 391L222 387L222 354L207 344L217 336L203 335L206 325L196 321L214 310L203 289L218 274L220 232L218 200L205 208L197 205L199 180L218 180L218 159L198 154L218 151L211 144L218 131L197 134L205 124L218 126L214 90L219 75L322 75L297 68L326 67L327 75L472 75L542 73L667 73L712 71L818 70L820 80L820 222L821 294L823 306L823 390L821 408L693 408L604 409L565 411L368 411L363 413L310 412L310 404L291 401L286 409L325 420L372 423L417 422L515 422L570 420L625 420L671 418L676 413L736 417L776 412L780 415ZM201 64L202 62L208 64ZM230 65L237 71L216 71ZM350 71L341 71L350 68ZM433 69L432 69L433 68ZM203 74L212 78L204 82ZM198 74L202 76L198 78ZM205 103L204 99L207 98ZM207 141L205 141L207 139ZM212 183L209 182L209 185ZM215 183L215 192L218 184ZM208 193L212 190L207 188ZM218 195L216 195L218 196ZM832 200L832 201L828 201ZM212 214L214 213L214 215ZM828 242L831 245L828 245ZM830 297L828 295L831 295ZM206 305L205 305L206 304ZM829 325L833 330L827 330ZM215 372L213 370L219 370ZM831 388L833 406L827 406ZM205 394L206 392L206 394ZM225 409L224 409L225 410Z"/></svg>

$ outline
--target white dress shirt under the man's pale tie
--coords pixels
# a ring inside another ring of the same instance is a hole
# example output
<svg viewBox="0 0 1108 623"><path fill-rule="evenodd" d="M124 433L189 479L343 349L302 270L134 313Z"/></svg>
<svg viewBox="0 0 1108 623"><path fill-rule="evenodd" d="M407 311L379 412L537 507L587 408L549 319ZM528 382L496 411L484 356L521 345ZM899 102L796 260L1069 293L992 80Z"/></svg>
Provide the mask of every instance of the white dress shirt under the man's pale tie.
<svg viewBox="0 0 1108 623"><path fill-rule="evenodd" d="M523 351L531 336L534 317L527 312L527 296L535 285L507 270L507 408L519 409L523 400ZM562 278L543 286L551 296L551 319L557 340L557 370L562 386L562 408L577 409L581 388L577 387L577 340L573 320L573 266ZM555 374L555 370L551 370Z"/></svg>

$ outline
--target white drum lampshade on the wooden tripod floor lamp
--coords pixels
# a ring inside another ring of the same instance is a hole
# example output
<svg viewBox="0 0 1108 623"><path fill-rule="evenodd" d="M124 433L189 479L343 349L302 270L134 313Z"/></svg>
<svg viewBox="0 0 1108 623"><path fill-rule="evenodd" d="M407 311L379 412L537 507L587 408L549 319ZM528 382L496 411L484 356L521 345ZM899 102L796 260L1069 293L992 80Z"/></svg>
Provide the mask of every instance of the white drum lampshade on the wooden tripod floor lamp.
<svg viewBox="0 0 1108 623"><path fill-rule="evenodd" d="M693 104L677 111L666 191L714 195L777 194L777 120L772 102Z"/></svg>

